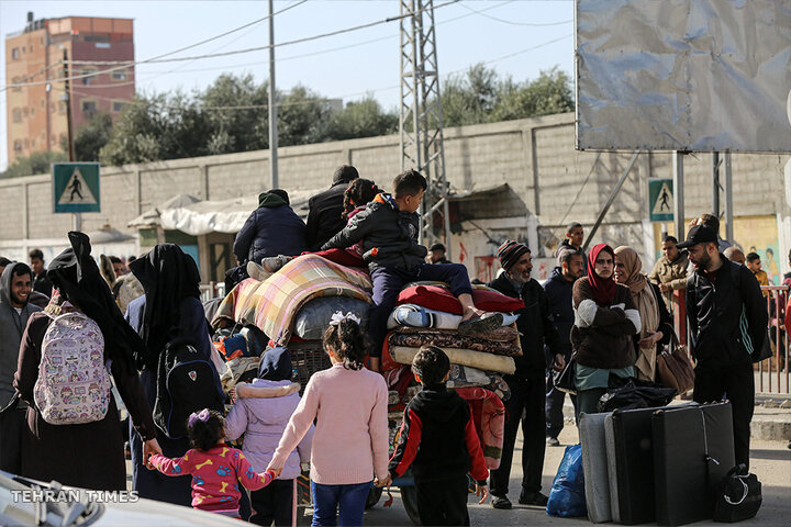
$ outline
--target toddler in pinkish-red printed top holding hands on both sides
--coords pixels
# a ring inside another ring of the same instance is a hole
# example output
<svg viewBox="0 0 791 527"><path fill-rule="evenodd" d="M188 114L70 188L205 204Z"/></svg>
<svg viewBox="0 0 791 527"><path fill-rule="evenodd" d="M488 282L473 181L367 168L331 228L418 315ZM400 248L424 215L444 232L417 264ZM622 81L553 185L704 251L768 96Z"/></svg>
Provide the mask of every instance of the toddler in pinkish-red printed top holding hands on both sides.
<svg viewBox="0 0 791 527"><path fill-rule="evenodd" d="M238 502L245 489L257 491L275 479L275 472L257 473L241 450L226 447L219 412L204 408L189 418L192 448L181 458L151 457L149 469L165 475L192 474L192 508L239 518Z"/></svg>

